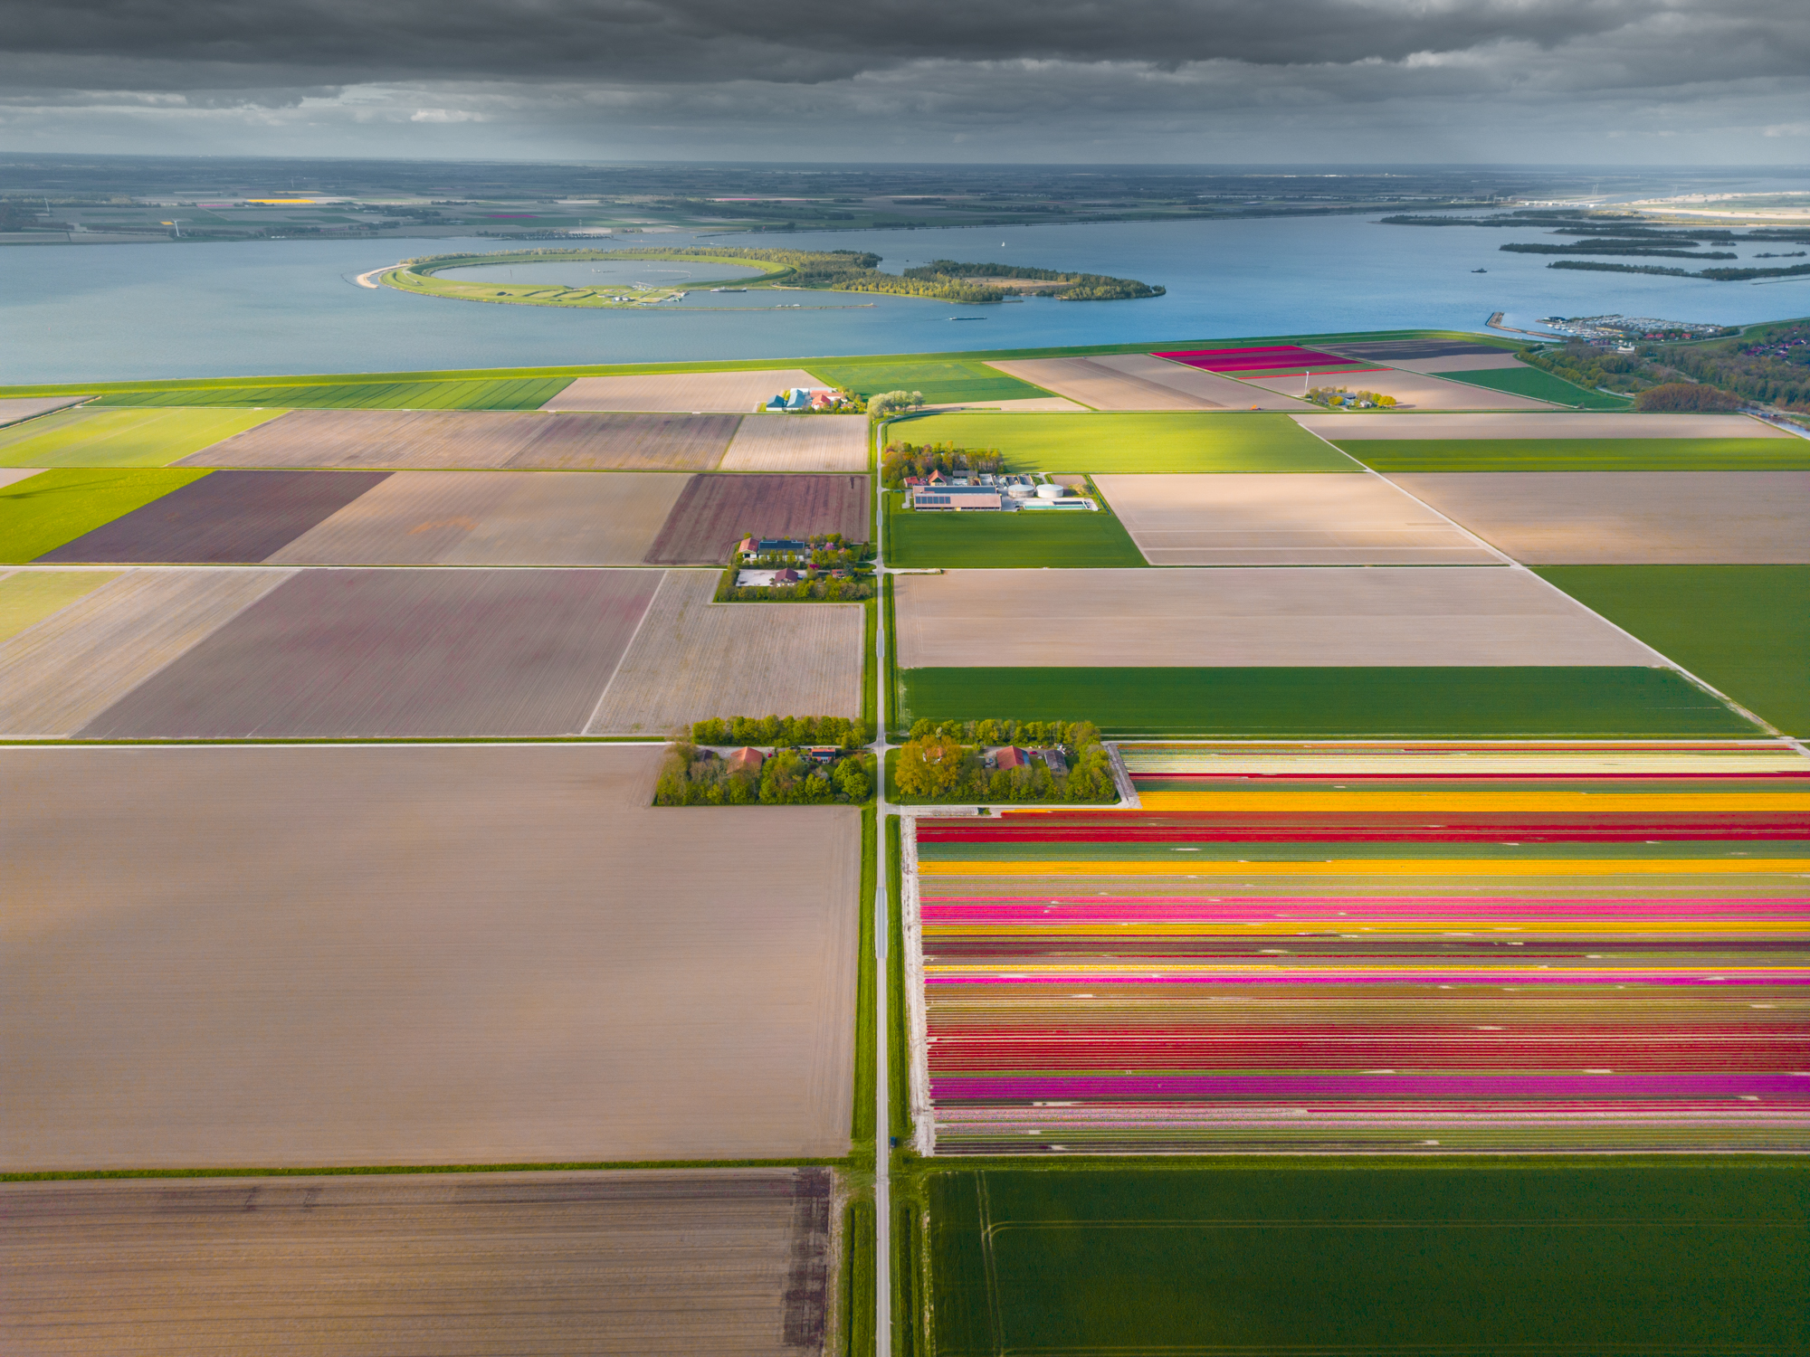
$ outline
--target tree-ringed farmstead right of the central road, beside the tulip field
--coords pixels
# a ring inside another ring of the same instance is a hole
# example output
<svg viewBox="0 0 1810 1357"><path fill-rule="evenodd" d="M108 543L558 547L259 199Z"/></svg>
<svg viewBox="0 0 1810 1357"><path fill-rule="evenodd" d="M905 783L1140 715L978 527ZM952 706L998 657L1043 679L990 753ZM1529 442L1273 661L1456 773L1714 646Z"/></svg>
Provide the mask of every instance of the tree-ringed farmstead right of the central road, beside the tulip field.
<svg viewBox="0 0 1810 1357"><path fill-rule="evenodd" d="M887 753L887 798L901 805L1111 803L1119 785L1093 722L919 720Z"/></svg>

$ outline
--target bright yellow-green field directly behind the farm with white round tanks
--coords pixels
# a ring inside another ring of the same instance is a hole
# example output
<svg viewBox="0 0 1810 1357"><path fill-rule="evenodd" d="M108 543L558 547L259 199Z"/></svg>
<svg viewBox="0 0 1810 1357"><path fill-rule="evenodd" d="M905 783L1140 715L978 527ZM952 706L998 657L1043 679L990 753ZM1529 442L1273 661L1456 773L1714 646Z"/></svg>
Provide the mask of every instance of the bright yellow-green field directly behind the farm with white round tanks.
<svg viewBox="0 0 1810 1357"><path fill-rule="evenodd" d="M927 414L889 441L997 447L1008 470L1358 470L1287 414Z"/></svg>

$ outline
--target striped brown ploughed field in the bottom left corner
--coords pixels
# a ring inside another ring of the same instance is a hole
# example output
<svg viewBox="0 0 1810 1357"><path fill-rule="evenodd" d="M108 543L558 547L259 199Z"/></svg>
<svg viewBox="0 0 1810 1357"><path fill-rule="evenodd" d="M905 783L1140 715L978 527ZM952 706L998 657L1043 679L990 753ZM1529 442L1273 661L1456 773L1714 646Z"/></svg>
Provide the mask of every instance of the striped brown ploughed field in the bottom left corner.
<svg viewBox="0 0 1810 1357"><path fill-rule="evenodd" d="M0 1185L14 1353L814 1353L827 1169Z"/></svg>

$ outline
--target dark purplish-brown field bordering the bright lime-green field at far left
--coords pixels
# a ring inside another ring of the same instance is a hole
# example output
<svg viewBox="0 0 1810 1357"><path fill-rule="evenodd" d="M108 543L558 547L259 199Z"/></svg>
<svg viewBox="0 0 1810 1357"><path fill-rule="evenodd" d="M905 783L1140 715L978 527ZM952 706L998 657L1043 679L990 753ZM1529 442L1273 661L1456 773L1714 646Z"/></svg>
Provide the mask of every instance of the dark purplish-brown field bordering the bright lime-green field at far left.
<svg viewBox="0 0 1810 1357"><path fill-rule="evenodd" d="M38 563L257 565L387 478L387 470L215 470Z"/></svg>

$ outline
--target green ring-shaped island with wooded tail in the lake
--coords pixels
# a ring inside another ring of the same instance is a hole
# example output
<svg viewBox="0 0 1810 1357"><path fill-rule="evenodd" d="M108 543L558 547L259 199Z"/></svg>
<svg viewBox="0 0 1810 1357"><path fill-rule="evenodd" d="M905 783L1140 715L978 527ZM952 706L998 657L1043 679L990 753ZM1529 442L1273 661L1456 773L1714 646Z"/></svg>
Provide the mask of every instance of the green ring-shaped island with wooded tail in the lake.
<svg viewBox="0 0 1810 1357"><path fill-rule="evenodd" d="M749 264L766 266L755 277L697 279L684 286L670 288L634 288L628 284L601 284L595 288L570 288L565 284L532 282L487 282L476 279L440 277L454 268L491 268L501 264L552 264L552 262L594 262L594 261L681 261L699 264L724 264L728 268L746 268ZM594 306L594 308L634 308L652 306L670 297L699 291L702 288L735 286L748 289L766 288L809 288L827 291L885 293L891 297L923 297L939 302L986 304L1003 302L1019 291L1041 291L1028 284L1017 286L1014 280L1034 277L1061 279L1062 286L1055 295L1066 300L1120 300L1131 297L1157 297L1162 288L1149 288L1133 279L1110 279L1095 273L1052 273L1048 270L1012 270L1008 266L974 264L976 270L1005 268L1003 282L974 282L938 266L938 261L925 268L900 273L881 273L880 255L862 250L755 250L748 246L673 246L639 250L503 250L498 253L460 253L425 255L405 259L396 268L382 275L382 282L398 291L422 293L431 297L456 297L469 302L514 302L521 306ZM956 268L970 268L957 264Z"/></svg>

